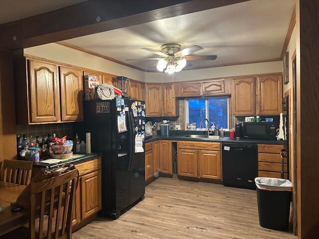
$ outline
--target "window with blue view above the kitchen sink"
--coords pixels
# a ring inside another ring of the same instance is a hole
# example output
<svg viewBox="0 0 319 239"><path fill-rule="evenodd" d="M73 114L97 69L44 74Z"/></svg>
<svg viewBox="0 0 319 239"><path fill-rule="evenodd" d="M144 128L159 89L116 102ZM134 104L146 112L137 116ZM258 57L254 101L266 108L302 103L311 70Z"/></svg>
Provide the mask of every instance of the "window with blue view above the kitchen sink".
<svg viewBox="0 0 319 239"><path fill-rule="evenodd" d="M200 121L204 118L210 123L214 121L217 128L228 128L228 97L185 99L185 125L196 123L196 128L199 128ZM203 121L202 128L206 128L206 120Z"/></svg>

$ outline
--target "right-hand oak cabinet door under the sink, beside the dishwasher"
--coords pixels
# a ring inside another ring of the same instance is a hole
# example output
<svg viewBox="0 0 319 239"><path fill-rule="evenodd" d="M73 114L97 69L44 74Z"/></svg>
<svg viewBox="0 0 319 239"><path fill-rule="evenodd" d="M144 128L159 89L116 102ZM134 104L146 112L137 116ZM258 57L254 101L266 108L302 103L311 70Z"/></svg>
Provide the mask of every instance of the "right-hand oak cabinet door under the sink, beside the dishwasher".
<svg viewBox="0 0 319 239"><path fill-rule="evenodd" d="M200 178L221 179L219 151L198 151L198 165Z"/></svg>

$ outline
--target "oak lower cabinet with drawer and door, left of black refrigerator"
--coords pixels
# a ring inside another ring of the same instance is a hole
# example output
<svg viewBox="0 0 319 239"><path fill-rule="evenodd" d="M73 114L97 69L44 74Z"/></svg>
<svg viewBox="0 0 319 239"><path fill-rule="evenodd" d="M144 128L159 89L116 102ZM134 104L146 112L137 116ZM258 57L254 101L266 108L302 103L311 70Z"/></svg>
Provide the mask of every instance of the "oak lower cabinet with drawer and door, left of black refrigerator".
<svg viewBox="0 0 319 239"><path fill-rule="evenodd" d="M101 157L75 166L80 178L73 203L73 227L102 209Z"/></svg>

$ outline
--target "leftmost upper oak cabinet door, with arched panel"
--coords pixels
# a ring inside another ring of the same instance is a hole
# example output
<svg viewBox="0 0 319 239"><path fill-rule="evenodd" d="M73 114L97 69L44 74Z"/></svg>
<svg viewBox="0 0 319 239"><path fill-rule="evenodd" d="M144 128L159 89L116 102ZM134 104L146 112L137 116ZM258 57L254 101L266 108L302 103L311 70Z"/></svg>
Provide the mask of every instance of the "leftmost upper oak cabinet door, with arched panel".
<svg viewBox="0 0 319 239"><path fill-rule="evenodd" d="M29 60L31 122L60 121L60 90L55 64ZM19 102L23 104L23 102Z"/></svg>

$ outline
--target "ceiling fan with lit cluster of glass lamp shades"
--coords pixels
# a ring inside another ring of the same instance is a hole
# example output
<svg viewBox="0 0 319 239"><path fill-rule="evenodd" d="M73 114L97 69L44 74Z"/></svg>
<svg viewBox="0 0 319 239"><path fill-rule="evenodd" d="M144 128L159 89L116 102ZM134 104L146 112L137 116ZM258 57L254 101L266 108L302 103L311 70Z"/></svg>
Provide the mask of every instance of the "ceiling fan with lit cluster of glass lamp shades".
<svg viewBox="0 0 319 239"><path fill-rule="evenodd" d="M198 61L198 60L215 60L216 55L204 55L197 56L191 55L192 53L203 49L201 46L192 45L184 49L180 49L181 46L176 43L168 43L161 45L160 51L153 50L150 48L142 48L144 50L153 52L160 57L157 58L143 58L143 59L128 59L129 60L158 60L156 64L157 69L165 73L174 73L181 71L185 66L187 61ZM191 65L188 65L188 67Z"/></svg>

